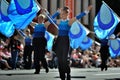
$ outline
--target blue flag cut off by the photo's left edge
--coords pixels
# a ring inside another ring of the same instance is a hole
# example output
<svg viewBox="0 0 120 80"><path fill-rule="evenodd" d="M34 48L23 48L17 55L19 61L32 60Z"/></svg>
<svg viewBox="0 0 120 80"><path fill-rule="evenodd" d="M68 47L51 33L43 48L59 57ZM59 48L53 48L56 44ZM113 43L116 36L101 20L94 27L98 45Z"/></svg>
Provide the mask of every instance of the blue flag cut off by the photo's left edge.
<svg viewBox="0 0 120 80"><path fill-rule="evenodd" d="M0 3L0 33L6 37L11 37L14 34L15 27L12 21L8 17L8 3L5 0L1 0Z"/></svg>

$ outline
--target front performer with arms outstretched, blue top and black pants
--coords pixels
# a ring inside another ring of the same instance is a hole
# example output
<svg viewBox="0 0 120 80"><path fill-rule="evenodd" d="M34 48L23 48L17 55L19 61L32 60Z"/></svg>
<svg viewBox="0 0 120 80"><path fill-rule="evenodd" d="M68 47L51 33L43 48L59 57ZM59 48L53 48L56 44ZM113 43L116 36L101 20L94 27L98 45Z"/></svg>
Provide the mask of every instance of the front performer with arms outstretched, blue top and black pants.
<svg viewBox="0 0 120 80"><path fill-rule="evenodd" d="M69 8L64 7L61 9L61 12L60 12L61 19L55 21L59 27L59 31L58 31L58 37L54 44L54 52L56 53L56 56L58 58L58 69L59 69L61 80L65 80L66 75L67 75L67 80L71 80L71 75L70 75L71 70L68 64L68 55L69 55L69 48L70 48L68 33L70 30L70 26L75 20L80 19L81 17L86 15L91 8L92 6L89 6L88 10L86 10L82 14L79 14L72 19L68 19ZM52 22L50 21L50 23ZM46 27L48 27L47 25L49 25L50 23L46 22L45 23Z"/></svg>

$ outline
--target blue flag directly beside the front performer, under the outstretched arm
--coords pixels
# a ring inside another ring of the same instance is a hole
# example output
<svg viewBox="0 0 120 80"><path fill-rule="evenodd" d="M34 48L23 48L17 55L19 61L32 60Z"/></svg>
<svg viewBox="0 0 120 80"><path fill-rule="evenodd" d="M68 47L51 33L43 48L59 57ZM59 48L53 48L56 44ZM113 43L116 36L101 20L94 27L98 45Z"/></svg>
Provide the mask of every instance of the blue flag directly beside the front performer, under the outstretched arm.
<svg viewBox="0 0 120 80"><path fill-rule="evenodd" d="M70 32L69 32L70 46L73 49L78 48L80 43L86 36L86 31L83 27L84 26L81 23L75 21L70 28Z"/></svg>

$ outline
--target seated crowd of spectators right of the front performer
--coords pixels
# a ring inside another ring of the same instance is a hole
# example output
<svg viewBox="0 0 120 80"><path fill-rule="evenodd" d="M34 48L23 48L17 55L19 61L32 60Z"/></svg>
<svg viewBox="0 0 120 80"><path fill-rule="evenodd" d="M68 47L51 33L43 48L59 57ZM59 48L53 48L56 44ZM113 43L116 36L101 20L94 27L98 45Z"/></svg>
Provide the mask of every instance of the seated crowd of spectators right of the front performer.
<svg viewBox="0 0 120 80"><path fill-rule="evenodd" d="M74 49L71 53L71 67L99 68L101 66L100 45L93 44L88 50ZM120 67L120 58L109 57L108 67Z"/></svg>

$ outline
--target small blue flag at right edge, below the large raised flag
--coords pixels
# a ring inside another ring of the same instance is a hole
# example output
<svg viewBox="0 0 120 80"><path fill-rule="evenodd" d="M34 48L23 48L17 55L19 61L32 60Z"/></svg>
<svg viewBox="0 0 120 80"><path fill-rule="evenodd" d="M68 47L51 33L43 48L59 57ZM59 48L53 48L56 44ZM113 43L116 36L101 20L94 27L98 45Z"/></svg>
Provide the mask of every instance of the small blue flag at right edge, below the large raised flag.
<svg viewBox="0 0 120 80"><path fill-rule="evenodd" d="M120 38L109 40L109 52L112 58L120 56Z"/></svg>

